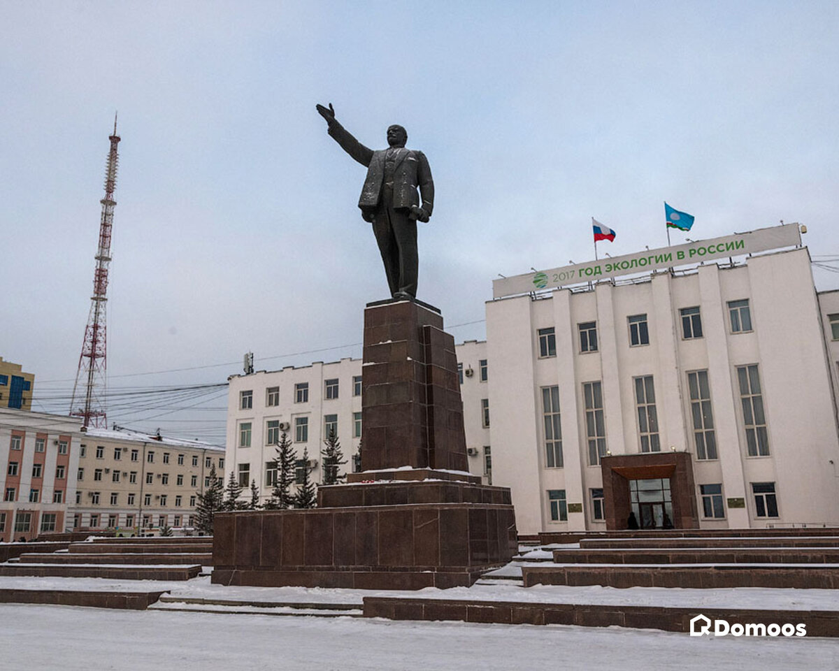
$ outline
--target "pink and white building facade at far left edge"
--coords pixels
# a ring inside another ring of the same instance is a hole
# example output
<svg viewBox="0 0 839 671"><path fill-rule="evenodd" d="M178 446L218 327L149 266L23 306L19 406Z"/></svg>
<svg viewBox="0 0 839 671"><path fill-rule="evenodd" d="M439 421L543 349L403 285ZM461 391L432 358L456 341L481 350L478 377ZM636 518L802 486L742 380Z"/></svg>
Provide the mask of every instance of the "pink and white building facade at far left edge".
<svg viewBox="0 0 839 671"><path fill-rule="evenodd" d="M0 541L63 531L76 497L81 424L76 419L0 408Z"/></svg>

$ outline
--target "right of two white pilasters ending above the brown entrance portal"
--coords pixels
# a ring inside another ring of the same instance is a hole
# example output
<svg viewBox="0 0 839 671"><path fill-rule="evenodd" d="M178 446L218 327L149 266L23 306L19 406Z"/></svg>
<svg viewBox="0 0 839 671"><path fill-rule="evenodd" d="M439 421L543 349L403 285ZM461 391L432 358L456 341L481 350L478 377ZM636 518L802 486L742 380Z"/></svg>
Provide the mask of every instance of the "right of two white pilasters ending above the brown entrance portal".
<svg viewBox="0 0 839 671"><path fill-rule="evenodd" d="M670 286L672 281L670 273L659 273L653 277L654 330L659 355L659 374L654 383L656 405L661 408L658 413L661 449L670 450L673 445L681 451L687 450L689 443L680 379L679 324Z"/></svg>

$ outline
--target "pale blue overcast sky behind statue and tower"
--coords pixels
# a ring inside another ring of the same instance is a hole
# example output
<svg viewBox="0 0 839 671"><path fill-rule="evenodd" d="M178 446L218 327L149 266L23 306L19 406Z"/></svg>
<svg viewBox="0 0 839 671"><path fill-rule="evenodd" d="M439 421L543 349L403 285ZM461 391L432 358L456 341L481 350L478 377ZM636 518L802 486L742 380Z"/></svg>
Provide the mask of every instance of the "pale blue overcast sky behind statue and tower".
<svg viewBox="0 0 839 671"><path fill-rule="evenodd" d="M694 239L800 221L839 256L837 64L832 1L5 0L0 356L36 398L72 387L117 110L110 384L193 384L248 350L269 370L361 356L363 306L388 295L364 169L316 102L428 156L418 297L463 341L498 273L593 257L591 216L613 256L666 244L664 200ZM213 433L140 421L159 413L128 424Z"/></svg>

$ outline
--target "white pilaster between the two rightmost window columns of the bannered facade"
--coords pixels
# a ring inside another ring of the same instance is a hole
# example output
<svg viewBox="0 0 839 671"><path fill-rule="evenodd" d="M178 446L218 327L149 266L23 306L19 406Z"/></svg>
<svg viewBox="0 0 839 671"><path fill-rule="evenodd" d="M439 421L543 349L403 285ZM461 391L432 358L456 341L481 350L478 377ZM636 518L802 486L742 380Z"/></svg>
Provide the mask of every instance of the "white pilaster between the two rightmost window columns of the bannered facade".
<svg viewBox="0 0 839 671"><path fill-rule="evenodd" d="M711 414L714 418L714 433L717 439L717 456L721 463L722 494L725 498L748 500L746 479L743 474L743 450L737 429L737 403L734 395L737 381L733 379L733 367L728 352L726 308L722 300L720 269L716 263L699 268L699 290L702 302L703 333L707 349L713 352L708 357L708 385L711 389ZM690 398L686 400L690 416ZM692 433L692 432L691 432ZM690 451L696 446L690 435ZM696 456L694 457L696 458ZM703 483L697 483L697 486ZM726 505L729 528L748 528L748 507Z"/></svg>

